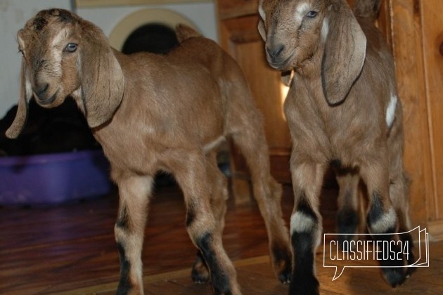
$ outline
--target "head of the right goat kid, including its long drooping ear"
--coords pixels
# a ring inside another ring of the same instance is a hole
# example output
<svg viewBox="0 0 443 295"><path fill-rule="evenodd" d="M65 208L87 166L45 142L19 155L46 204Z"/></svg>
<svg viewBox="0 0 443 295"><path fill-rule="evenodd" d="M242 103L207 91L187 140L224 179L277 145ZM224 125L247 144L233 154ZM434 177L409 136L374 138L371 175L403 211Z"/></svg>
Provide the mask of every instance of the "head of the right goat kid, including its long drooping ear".
<svg viewBox="0 0 443 295"><path fill-rule="evenodd" d="M318 63L328 103L342 102L366 55L366 37L346 1L260 0L259 14L269 65L284 71Z"/></svg>

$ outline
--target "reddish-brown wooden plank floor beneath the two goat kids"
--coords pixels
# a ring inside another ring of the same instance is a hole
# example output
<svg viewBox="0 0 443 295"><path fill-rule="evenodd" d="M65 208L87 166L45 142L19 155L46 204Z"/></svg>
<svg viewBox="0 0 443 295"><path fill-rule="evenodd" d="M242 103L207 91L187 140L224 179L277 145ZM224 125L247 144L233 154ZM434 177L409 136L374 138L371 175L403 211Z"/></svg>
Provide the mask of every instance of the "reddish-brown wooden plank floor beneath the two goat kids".
<svg viewBox="0 0 443 295"><path fill-rule="evenodd" d="M335 190L323 193L325 232L334 232ZM285 220L293 197L283 196ZM119 261L113 236L117 195L37 208L0 207L0 294L113 294ZM150 206L143 250L147 294L211 294L193 284L196 253L184 227L184 203L175 186L158 188ZM255 203L229 200L224 247L234 261L243 294L287 294L267 256L267 236ZM443 242L430 243L430 267L420 268L402 287L391 289L378 268L346 268L332 281L323 268L323 247L316 256L322 294L443 294Z"/></svg>

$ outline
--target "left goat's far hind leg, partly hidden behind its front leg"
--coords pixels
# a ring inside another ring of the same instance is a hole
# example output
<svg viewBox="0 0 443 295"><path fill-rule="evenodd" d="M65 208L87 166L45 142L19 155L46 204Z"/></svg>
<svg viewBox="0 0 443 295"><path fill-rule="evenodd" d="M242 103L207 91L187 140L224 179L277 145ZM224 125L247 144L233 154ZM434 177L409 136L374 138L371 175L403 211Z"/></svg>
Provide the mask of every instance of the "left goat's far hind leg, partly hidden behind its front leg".
<svg viewBox="0 0 443 295"><path fill-rule="evenodd" d="M217 152L212 151L207 155L207 169L210 185L212 185L211 207L217 222L217 232L223 232L226 200L228 199L228 181L217 166ZM210 280L209 270L200 251L195 258L191 276L196 283L205 283Z"/></svg>

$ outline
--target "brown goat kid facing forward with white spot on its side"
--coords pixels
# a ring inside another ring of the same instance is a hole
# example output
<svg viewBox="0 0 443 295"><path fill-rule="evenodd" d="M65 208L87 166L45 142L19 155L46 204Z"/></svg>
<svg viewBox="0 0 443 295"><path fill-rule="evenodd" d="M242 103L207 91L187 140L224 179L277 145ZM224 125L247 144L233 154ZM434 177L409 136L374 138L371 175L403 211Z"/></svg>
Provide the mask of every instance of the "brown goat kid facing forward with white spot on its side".
<svg viewBox="0 0 443 295"><path fill-rule="evenodd" d="M375 240L409 245L409 261L380 260L385 280L402 284L413 268L409 181L403 167L402 104L394 62L373 24L380 0L261 0L259 32L267 60L295 72L284 110L293 138L290 294L316 294L314 254L321 241L319 194L330 164L339 171L339 230L357 229L357 185L368 192L366 223ZM392 233L392 235L390 235ZM378 235L388 234L388 235ZM401 252L401 249L397 253ZM381 256L380 256L381 257ZM383 256L385 257L385 256Z"/></svg>

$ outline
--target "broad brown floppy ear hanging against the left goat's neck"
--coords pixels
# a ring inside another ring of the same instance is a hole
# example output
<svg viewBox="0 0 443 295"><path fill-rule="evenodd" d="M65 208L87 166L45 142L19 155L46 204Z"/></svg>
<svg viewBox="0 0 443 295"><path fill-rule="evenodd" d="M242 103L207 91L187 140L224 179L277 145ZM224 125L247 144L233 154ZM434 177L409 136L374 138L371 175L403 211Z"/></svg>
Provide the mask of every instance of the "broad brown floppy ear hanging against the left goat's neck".
<svg viewBox="0 0 443 295"><path fill-rule="evenodd" d="M124 76L101 29L88 23L80 53L82 99L89 127L108 122L122 102Z"/></svg>

